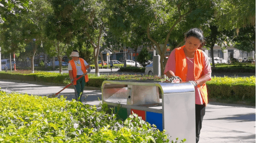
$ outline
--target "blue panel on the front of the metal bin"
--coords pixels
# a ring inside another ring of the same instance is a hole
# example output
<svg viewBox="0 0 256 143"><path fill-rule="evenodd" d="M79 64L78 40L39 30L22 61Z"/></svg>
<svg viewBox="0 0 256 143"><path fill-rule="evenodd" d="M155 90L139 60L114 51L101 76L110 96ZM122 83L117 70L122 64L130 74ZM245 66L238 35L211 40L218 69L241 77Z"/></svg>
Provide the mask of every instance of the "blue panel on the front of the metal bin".
<svg viewBox="0 0 256 143"><path fill-rule="evenodd" d="M150 124L155 124L158 130L163 131L161 113L146 112L146 121Z"/></svg>

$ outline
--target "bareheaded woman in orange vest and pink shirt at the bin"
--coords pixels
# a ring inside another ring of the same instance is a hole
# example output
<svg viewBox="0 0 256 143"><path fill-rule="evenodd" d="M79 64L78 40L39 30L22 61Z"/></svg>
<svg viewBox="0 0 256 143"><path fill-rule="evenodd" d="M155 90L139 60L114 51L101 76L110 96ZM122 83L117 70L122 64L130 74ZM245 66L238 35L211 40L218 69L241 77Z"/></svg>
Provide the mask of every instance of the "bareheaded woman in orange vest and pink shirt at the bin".
<svg viewBox="0 0 256 143"><path fill-rule="evenodd" d="M189 81L195 87L195 132L199 141L205 107L208 104L206 81L211 80L208 56L199 50L204 45L203 32L198 28L185 34L185 45L174 49L166 63L164 74L168 78Z"/></svg>

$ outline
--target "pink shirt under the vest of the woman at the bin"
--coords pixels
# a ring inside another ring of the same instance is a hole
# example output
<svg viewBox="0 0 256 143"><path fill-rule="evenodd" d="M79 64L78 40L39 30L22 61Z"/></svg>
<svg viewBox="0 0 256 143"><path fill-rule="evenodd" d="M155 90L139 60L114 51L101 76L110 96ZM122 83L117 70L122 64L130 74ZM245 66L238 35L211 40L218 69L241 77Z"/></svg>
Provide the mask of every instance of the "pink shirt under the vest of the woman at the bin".
<svg viewBox="0 0 256 143"><path fill-rule="evenodd" d="M168 72L169 70L171 70L174 73L176 71L175 50L176 49L174 49L171 52L171 54L168 58L168 61L167 61L166 66L165 66L164 74L166 72ZM205 54L204 51L202 51L202 53L203 53L203 59L204 59L203 61L204 61L204 65L205 65L204 69L203 69L203 75L207 75L211 79L212 70L211 70L210 62L208 60L208 56ZM186 56L186 61L187 61L187 64L188 64L188 72L187 72L186 81L195 81L195 77L194 77L194 58L189 58L189 57ZM195 87L195 104L198 104L198 105L203 104L202 96L201 96L201 93L200 93L198 87Z"/></svg>

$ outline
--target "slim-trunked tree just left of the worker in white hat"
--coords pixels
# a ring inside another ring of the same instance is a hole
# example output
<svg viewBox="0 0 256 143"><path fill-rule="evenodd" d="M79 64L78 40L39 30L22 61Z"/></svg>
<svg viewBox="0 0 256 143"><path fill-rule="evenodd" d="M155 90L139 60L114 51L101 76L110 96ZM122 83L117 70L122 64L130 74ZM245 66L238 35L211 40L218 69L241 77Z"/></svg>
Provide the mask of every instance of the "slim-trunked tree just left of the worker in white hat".
<svg viewBox="0 0 256 143"><path fill-rule="evenodd" d="M49 0L53 13L46 22L46 34L54 42L53 49L59 60L60 74L62 74L62 58L66 54L68 44L74 39L76 24L74 13L80 0ZM55 60L54 60L55 61Z"/></svg>

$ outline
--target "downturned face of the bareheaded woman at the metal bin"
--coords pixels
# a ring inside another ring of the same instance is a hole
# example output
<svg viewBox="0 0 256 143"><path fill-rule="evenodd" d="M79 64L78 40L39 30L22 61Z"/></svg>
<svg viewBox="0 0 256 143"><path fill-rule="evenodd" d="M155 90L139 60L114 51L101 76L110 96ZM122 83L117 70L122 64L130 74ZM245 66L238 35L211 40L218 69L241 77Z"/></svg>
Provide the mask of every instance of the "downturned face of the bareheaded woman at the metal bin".
<svg viewBox="0 0 256 143"><path fill-rule="evenodd" d="M193 36L186 37L185 41L185 49L189 52L194 52L201 45L201 41Z"/></svg>

